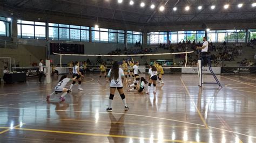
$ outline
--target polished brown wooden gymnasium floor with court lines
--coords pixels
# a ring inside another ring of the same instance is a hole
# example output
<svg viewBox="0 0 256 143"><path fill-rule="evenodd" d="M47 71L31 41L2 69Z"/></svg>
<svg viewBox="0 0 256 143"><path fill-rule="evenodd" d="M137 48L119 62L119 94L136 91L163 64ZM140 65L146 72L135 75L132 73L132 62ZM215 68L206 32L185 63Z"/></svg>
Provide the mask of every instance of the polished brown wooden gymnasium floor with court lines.
<svg viewBox="0 0 256 143"><path fill-rule="evenodd" d="M57 77L2 83L0 142L256 142L256 75L218 75L220 89L199 88L197 75L166 74L157 94L125 91L127 112L116 92L112 113L109 83L97 78L86 75L84 91L74 87L65 102L45 101Z"/></svg>

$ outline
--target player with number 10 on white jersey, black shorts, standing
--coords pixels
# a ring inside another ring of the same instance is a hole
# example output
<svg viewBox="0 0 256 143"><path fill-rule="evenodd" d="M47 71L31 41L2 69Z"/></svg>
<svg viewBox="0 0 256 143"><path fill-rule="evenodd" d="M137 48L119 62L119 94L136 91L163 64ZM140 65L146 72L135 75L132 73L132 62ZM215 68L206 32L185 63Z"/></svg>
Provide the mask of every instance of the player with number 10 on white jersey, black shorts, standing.
<svg viewBox="0 0 256 143"><path fill-rule="evenodd" d="M149 79L149 87L147 87L147 92L146 94L149 94L151 84L153 83L154 86L154 94L156 94L156 82L157 82L157 68L154 67L153 65L150 65L149 69L149 74L150 74L150 79Z"/></svg>

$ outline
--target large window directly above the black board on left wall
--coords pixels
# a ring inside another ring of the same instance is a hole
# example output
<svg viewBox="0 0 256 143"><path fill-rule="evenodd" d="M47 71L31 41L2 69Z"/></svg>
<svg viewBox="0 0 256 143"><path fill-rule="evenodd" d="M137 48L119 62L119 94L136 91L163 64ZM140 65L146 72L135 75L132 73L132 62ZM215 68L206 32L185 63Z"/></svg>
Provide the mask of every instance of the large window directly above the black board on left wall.
<svg viewBox="0 0 256 143"><path fill-rule="evenodd" d="M86 26L49 23L49 39L89 41L90 28Z"/></svg>

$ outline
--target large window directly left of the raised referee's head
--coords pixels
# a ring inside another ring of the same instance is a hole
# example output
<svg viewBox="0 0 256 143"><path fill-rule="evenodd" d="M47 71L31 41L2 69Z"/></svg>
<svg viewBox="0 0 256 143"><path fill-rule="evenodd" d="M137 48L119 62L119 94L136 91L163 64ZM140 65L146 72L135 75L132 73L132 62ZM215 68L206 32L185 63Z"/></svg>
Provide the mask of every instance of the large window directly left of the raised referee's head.
<svg viewBox="0 0 256 143"><path fill-rule="evenodd" d="M202 42L205 37L205 31L171 31L169 32L169 40L171 43L183 42L190 40Z"/></svg>

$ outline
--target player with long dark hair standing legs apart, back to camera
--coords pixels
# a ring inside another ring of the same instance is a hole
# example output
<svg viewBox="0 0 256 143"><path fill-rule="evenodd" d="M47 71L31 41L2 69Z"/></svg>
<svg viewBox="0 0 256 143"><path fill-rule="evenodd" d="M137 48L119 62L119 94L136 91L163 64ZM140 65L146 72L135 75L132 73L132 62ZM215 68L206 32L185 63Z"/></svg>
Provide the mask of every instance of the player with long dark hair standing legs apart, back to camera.
<svg viewBox="0 0 256 143"><path fill-rule="evenodd" d="M112 112L112 102L114 98L114 91L118 90L122 101L124 103L124 110L129 110L129 107L126 104L126 99L123 91L123 83L124 80L124 71L122 68L119 68L118 62L115 61L113 63L112 69L109 70L109 74L107 74L110 80L110 96L109 96L109 108L106 109L107 112Z"/></svg>

